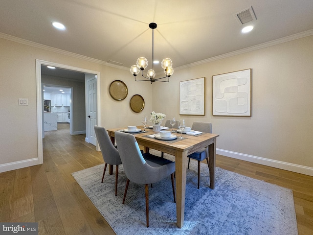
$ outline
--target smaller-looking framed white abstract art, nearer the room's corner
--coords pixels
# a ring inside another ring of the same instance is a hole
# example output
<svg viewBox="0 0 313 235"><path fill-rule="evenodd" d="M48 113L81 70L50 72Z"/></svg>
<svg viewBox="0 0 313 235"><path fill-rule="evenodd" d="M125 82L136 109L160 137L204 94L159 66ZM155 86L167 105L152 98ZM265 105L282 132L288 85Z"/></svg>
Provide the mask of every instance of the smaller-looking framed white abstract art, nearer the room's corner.
<svg viewBox="0 0 313 235"><path fill-rule="evenodd" d="M205 77L179 82L179 115L205 115Z"/></svg>

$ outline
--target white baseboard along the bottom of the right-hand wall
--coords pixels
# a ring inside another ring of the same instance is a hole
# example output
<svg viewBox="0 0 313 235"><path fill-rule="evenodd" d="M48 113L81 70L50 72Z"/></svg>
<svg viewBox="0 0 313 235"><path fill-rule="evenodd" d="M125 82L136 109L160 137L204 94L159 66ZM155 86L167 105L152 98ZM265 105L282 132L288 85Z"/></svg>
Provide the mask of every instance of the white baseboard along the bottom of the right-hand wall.
<svg viewBox="0 0 313 235"><path fill-rule="evenodd" d="M308 166L298 165L298 164L291 164L291 163L276 161L276 160L267 159L267 158L261 158L261 157L252 156L252 155L243 154L243 153L236 153L236 152L219 149L219 148L216 149L216 154L223 155L223 156L230 157L230 158L244 160L244 161L251 162L251 163L267 165L267 166L271 166L271 167L275 167L275 168L279 168L283 170L289 170L292 172L297 172L300 174L313 176L313 167L308 167Z"/></svg>

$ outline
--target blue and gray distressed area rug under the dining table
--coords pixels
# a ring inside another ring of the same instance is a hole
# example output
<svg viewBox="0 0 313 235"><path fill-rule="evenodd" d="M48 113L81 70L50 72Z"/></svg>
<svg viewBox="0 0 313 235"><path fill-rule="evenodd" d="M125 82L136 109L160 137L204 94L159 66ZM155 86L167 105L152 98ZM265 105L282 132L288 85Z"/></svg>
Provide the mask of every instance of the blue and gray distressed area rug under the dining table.
<svg viewBox="0 0 313 235"><path fill-rule="evenodd" d="M103 168L104 164L97 165L72 176L117 235L298 234L290 189L218 167L215 189L211 189L206 164L201 164L198 189L196 161L191 161L187 169L184 226L181 229L176 226L176 204L168 177L149 188L147 228L144 186L130 182L122 205L127 180L123 166L119 166L117 196L114 195L115 173L106 173L101 183Z"/></svg>

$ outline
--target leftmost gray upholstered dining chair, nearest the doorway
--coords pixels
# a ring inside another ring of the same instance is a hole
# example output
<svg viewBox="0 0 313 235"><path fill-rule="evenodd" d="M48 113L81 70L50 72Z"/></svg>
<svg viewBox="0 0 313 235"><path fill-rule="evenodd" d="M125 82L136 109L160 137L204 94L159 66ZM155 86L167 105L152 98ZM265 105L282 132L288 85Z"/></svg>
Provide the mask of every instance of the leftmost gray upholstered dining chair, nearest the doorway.
<svg viewBox="0 0 313 235"><path fill-rule="evenodd" d="M113 145L107 130L101 126L94 126L94 132L99 143L103 161L105 162L101 183L103 183L104 174L108 164L116 165L115 168L115 196L117 195L117 178L118 178L118 165L122 164L121 158L119 157L118 150Z"/></svg>

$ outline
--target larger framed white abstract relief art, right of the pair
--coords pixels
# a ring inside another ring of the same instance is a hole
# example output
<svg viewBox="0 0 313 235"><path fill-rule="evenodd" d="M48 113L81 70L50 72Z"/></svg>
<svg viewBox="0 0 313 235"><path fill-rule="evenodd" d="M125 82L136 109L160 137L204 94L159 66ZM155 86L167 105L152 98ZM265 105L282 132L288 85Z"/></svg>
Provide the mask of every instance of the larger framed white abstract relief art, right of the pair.
<svg viewBox="0 0 313 235"><path fill-rule="evenodd" d="M212 76L213 116L251 117L251 69Z"/></svg>

